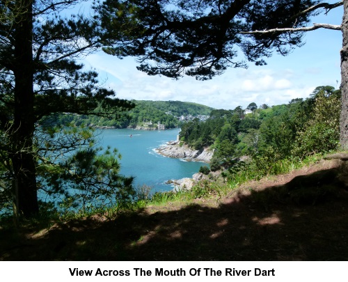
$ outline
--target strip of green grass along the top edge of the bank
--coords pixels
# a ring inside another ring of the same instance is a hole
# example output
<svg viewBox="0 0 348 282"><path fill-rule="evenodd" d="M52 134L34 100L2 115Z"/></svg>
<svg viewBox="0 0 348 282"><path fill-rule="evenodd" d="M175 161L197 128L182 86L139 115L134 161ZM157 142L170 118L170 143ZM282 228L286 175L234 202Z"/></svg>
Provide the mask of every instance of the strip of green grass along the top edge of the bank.
<svg viewBox="0 0 348 282"><path fill-rule="evenodd" d="M300 169L303 166L315 164L321 158L322 155L313 155L304 159L281 159L271 163L271 165L262 163L264 160L261 160L261 162L258 160L258 162L251 162L249 164L242 163L239 164L237 168L234 168L234 170L224 174L226 180L224 182L203 180L194 185L190 190L178 192L166 191L150 194L151 187L141 185L136 189L136 197L139 198L139 200L127 204L122 208L120 208L120 206L91 207L84 211L67 209L63 211L63 213L58 211L52 212L52 210L41 210L37 217L25 221L25 224L47 227L49 224L52 224L52 222L79 220L92 217L95 214L103 214L107 219L114 219L120 212L136 212L136 210L142 210L149 205L159 207L168 205L168 203L186 205L200 198L211 198L212 196L221 198L246 182L260 180L265 176L289 173L294 169ZM13 219L7 215L2 219L0 218L0 223L4 226L11 226L13 224Z"/></svg>

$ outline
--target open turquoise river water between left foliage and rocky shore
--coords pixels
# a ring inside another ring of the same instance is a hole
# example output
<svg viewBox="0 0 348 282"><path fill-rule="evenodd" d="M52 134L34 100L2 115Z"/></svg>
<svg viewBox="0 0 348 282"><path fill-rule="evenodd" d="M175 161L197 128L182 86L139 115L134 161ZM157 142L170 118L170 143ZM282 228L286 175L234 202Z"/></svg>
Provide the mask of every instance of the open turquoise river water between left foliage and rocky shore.
<svg viewBox="0 0 348 282"><path fill-rule="evenodd" d="M166 185L166 181L191 178L200 166L207 165L164 157L155 152L166 142L176 140L179 131L101 130L100 145L118 149L122 155L120 173L134 176L135 187L145 184L153 187L152 191L168 191L173 187Z"/></svg>

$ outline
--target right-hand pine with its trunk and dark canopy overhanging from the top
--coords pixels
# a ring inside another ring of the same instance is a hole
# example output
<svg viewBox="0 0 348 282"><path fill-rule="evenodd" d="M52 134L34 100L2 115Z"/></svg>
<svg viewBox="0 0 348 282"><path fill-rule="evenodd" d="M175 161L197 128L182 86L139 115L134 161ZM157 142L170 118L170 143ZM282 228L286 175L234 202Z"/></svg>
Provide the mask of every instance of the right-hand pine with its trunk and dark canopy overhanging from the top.
<svg viewBox="0 0 348 282"><path fill-rule="evenodd" d="M342 6L341 25L310 24L319 13ZM100 22L110 31L114 22L138 19L122 44L111 40L106 53L138 56L139 70L176 79L212 79L226 68L245 68L246 61L264 65L274 52L287 55L301 47L307 31L342 31L340 144L348 148L348 1L106 0L100 10Z"/></svg>

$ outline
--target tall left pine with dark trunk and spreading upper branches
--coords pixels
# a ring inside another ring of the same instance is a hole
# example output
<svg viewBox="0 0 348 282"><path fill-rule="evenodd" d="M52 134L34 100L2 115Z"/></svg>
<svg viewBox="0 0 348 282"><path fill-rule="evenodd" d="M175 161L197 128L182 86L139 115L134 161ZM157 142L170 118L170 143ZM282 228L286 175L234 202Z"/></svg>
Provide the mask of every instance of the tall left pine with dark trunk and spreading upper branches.
<svg viewBox="0 0 348 282"><path fill-rule="evenodd" d="M58 130L40 127L42 120L63 112L110 116L133 107L100 87L97 72L77 63L77 58L94 52L106 40L92 15L61 13L81 2L0 3L0 173L6 181L1 191L13 187L17 209L25 216L38 212L38 175L49 174L42 172L44 163L57 164L42 149L72 152L89 139L82 132L77 139L66 137L66 143L57 143ZM100 104L103 111L95 111ZM94 151L85 152L96 156Z"/></svg>

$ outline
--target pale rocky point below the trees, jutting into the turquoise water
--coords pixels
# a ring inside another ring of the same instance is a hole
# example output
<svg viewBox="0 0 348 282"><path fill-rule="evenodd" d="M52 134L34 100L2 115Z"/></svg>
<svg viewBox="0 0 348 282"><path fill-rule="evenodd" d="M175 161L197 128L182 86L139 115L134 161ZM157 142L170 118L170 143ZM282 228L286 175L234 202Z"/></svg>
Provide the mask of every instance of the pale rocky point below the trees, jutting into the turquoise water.
<svg viewBox="0 0 348 282"><path fill-rule="evenodd" d="M195 162L210 162L214 152L209 148L203 150L193 150L187 145L180 146L177 141L168 142L166 146L157 149L157 152L166 157L174 157L177 159L187 159Z"/></svg>

